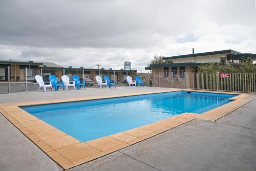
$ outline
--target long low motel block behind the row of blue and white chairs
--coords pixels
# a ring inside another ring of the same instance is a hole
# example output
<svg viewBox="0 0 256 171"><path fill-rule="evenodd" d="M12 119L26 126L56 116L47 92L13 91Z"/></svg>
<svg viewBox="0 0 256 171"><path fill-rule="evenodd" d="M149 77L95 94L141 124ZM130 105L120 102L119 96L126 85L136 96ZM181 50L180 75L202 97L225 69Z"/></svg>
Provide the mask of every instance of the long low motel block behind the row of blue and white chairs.
<svg viewBox="0 0 256 171"><path fill-rule="evenodd" d="M100 75L103 79L104 75L109 75L116 83L125 83L126 76L135 77L137 70L112 70L105 69L90 69L90 68L73 68L63 67L53 62L35 62L35 61L18 61L18 60L1 60L0 59L0 81L8 81L8 67L10 69L10 81L25 81L25 69L27 68L27 80L33 82L35 75L55 75L61 80L62 75L69 76L72 80L73 75L78 75L80 78L91 78L96 82L95 76Z"/></svg>

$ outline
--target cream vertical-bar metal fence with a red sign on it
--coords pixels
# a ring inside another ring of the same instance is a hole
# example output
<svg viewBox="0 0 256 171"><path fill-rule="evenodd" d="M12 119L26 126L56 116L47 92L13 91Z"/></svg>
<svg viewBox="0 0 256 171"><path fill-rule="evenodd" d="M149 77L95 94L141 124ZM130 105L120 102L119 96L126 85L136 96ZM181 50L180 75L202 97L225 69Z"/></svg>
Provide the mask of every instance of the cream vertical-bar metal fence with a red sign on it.
<svg viewBox="0 0 256 171"><path fill-rule="evenodd" d="M185 89L256 93L256 73L185 73Z"/></svg>

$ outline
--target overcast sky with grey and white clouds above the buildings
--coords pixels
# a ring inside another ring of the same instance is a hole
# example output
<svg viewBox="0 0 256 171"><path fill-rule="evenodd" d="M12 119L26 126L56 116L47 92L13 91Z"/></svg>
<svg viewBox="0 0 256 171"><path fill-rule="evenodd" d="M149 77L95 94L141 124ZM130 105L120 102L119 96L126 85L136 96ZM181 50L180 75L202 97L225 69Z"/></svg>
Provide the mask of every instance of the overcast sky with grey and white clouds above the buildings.
<svg viewBox="0 0 256 171"><path fill-rule="evenodd" d="M191 48L256 53L255 0L0 0L0 59L144 70Z"/></svg>

